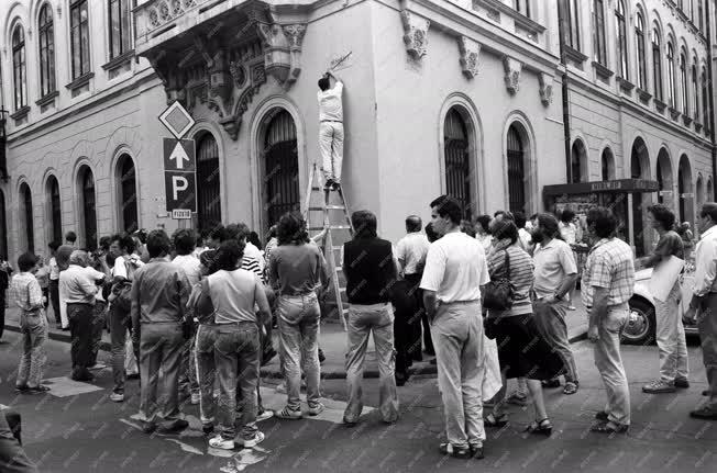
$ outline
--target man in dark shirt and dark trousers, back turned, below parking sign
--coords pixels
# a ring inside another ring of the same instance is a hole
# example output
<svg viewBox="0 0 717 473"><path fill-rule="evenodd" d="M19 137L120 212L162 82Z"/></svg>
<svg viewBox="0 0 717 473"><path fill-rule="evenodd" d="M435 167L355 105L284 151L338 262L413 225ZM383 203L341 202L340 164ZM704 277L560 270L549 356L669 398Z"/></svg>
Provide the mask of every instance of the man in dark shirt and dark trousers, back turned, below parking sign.
<svg viewBox="0 0 717 473"><path fill-rule="evenodd" d="M164 230L147 236L150 262L137 269L132 283L132 338L140 345L143 430L172 432L187 427L179 413L179 359L184 346L183 322L189 299L184 270L168 260L169 237ZM140 328L141 327L141 328ZM157 396L159 372L163 388Z"/></svg>

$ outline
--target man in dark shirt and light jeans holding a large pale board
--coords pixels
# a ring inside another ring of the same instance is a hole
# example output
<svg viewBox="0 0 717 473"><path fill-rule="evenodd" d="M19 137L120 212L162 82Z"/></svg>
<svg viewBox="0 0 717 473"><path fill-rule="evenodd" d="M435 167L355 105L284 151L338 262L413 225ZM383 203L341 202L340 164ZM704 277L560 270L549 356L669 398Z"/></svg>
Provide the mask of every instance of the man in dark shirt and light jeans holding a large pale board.
<svg viewBox="0 0 717 473"><path fill-rule="evenodd" d="M684 260L682 238L673 230L674 213L663 204L655 204L648 207L648 217L652 228L660 235L660 240L644 266L652 268L673 256ZM690 387L685 327L679 311L680 295L677 278L664 301L654 300L654 335L660 351L660 378L642 386L643 393L674 393L677 387Z"/></svg>

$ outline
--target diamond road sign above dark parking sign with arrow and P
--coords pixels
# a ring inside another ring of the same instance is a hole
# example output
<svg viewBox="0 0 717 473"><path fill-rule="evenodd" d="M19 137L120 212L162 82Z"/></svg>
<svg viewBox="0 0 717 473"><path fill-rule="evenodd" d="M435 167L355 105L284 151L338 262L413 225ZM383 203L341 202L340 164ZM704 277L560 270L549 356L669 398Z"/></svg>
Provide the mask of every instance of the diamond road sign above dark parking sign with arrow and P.
<svg viewBox="0 0 717 473"><path fill-rule="evenodd" d="M191 226L197 212L197 156L194 139L181 139L195 120L179 102L174 102L159 115L159 121L175 138L163 138L164 187L166 209L180 228Z"/></svg>

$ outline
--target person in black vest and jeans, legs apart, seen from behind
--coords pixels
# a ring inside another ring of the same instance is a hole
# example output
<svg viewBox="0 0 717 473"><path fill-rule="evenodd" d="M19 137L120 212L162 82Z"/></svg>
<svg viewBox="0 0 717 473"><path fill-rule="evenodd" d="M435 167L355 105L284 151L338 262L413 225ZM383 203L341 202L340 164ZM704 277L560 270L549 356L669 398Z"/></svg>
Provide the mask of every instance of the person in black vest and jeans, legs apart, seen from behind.
<svg viewBox="0 0 717 473"><path fill-rule="evenodd" d="M385 423L398 420L396 393L396 350L391 285L398 277L397 260L390 241L376 235L376 216L368 211L354 212L351 223L354 238L343 246L343 269L349 296L349 352L346 387L349 404L343 423L355 426L363 409L363 369L368 335L373 333L378 361L378 412Z"/></svg>

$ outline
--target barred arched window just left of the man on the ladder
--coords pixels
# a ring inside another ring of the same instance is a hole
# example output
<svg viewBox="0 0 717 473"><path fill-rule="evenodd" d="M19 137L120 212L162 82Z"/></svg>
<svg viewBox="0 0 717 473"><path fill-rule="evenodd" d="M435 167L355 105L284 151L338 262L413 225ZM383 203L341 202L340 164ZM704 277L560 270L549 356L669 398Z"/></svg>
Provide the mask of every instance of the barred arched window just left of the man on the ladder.
<svg viewBox="0 0 717 473"><path fill-rule="evenodd" d="M282 214L301 206L296 124L291 114L284 109L276 112L266 128L264 165L265 227L268 229Z"/></svg>

